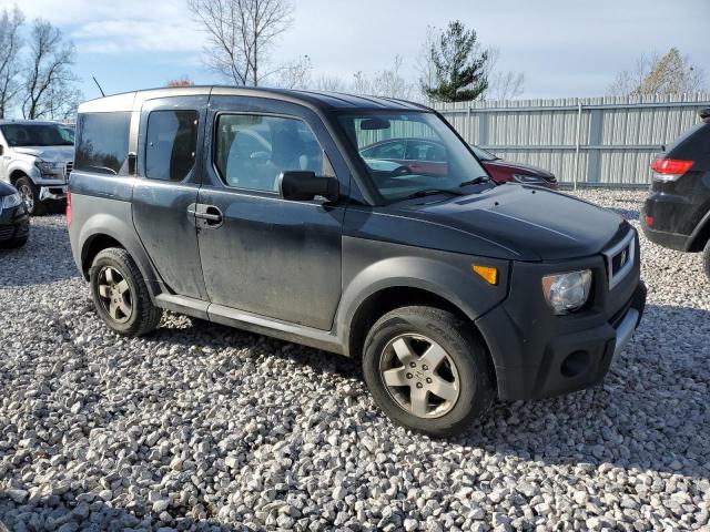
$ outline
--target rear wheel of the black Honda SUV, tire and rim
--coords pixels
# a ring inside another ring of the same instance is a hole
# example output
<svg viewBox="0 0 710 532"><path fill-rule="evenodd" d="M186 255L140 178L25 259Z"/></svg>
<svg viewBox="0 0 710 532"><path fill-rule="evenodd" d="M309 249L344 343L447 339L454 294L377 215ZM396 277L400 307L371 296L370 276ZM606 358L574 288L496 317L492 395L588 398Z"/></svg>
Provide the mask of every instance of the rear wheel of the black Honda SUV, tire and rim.
<svg viewBox="0 0 710 532"><path fill-rule="evenodd" d="M151 301L143 276L125 249L100 252L89 270L89 282L97 313L111 329L142 336L158 328L163 310Z"/></svg>

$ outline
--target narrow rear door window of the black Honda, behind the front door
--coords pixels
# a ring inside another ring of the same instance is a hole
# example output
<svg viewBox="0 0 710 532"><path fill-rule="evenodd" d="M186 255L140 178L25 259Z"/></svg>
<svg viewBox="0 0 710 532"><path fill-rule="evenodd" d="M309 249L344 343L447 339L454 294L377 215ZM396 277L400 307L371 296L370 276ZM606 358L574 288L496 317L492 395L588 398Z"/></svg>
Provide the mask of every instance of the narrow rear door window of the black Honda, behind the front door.
<svg viewBox="0 0 710 532"><path fill-rule="evenodd" d="M195 164L196 111L153 111L148 116L145 177L184 180Z"/></svg>

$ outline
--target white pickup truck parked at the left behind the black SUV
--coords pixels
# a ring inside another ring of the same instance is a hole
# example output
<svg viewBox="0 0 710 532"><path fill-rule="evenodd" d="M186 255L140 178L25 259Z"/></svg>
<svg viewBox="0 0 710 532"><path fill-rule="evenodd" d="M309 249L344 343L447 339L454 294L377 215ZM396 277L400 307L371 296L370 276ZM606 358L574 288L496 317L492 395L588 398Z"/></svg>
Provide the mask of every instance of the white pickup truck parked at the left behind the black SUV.
<svg viewBox="0 0 710 532"><path fill-rule="evenodd" d="M67 197L74 155L70 130L55 122L0 121L0 181L20 192L30 214Z"/></svg>

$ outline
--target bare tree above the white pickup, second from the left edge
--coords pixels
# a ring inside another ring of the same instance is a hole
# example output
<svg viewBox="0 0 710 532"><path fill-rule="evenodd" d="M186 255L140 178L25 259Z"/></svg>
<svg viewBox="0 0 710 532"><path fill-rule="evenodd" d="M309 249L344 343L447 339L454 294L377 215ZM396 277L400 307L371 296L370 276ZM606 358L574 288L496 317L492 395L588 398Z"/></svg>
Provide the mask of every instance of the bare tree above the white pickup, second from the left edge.
<svg viewBox="0 0 710 532"><path fill-rule="evenodd" d="M74 105L77 76L71 71L74 45L50 22L36 19L29 39L24 73L22 115L26 119L53 117Z"/></svg>

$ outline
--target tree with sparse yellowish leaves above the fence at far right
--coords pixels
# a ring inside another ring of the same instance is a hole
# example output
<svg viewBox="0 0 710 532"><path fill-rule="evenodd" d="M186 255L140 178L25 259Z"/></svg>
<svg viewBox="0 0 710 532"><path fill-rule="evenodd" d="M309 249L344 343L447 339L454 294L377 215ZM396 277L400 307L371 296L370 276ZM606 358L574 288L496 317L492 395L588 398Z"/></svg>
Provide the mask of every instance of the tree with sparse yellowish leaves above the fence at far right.
<svg viewBox="0 0 710 532"><path fill-rule="evenodd" d="M637 59L633 69L619 72L607 88L613 96L639 96L645 94L686 94L702 91L703 72L671 48L666 55L653 53Z"/></svg>

